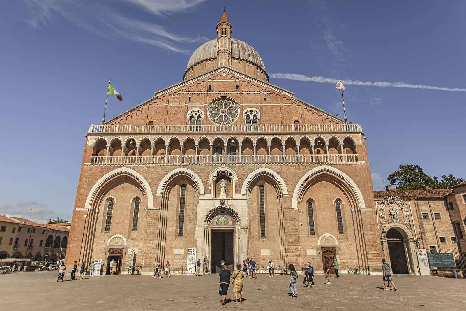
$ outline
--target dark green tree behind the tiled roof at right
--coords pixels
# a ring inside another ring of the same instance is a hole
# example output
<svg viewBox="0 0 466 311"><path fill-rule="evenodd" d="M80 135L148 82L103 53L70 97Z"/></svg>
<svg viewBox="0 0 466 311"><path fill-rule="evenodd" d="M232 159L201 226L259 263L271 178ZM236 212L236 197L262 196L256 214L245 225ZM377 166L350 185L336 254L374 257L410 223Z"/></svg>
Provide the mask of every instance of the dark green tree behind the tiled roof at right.
<svg viewBox="0 0 466 311"><path fill-rule="evenodd" d="M413 164L400 165L400 169L387 178L397 189L425 189L425 187L448 189L464 181L462 178L454 177L453 174L442 175L443 180L439 180L437 176L432 178L424 173L420 166Z"/></svg>

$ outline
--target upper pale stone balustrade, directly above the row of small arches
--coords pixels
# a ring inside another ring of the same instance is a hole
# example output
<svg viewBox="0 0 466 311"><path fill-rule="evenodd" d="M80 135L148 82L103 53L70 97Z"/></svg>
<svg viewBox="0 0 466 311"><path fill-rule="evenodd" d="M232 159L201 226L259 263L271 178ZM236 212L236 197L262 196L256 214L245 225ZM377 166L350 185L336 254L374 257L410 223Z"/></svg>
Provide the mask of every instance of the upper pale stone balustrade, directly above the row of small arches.
<svg viewBox="0 0 466 311"><path fill-rule="evenodd" d="M361 132L359 124L91 125L92 133Z"/></svg>

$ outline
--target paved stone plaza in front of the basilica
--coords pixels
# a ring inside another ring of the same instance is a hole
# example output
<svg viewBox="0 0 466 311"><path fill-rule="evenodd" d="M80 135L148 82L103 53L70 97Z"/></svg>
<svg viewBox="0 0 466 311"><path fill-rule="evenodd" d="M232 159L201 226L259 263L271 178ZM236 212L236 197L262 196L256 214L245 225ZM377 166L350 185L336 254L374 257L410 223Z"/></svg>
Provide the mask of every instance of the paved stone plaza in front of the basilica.
<svg viewBox="0 0 466 311"><path fill-rule="evenodd" d="M460 310L466 303L466 280L437 276L394 276L397 291L382 290L382 276L343 275L314 288L298 288L288 297L288 276L244 279L241 304L220 304L216 275L99 276L55 282L57 273L0 275L1 310ZM89 276L88 276L89 277ZM65 276L69 280L70 276ZM302 283L302 275L298 278ZM232 299L232 300L230 300Z"/></svg>

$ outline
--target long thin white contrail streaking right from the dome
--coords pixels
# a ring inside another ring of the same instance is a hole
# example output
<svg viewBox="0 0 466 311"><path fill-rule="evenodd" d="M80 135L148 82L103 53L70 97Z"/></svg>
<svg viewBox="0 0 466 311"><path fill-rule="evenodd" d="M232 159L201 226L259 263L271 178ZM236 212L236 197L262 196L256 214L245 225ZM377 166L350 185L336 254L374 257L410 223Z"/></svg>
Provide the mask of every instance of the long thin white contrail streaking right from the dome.
<svg viewBox="0 0 466 311"><path fill-rule="evenodd" d="M339 79L326 78L323 76L304 76L300 74L291 73L273 73L269 77L276 79L288 79L304 82L317 82L317 83L333 83L336 84ZM411 84L404 82L367 82L359 80L342 80L343 84L347 85L361 85L361 86L378 86L378 87L393 87L393 88L407 88L407 89L426 89L426 90L440 90L440 91L453 91L453 92L466 92L466 89L460 88L447 88L423 84Z"/></svg>

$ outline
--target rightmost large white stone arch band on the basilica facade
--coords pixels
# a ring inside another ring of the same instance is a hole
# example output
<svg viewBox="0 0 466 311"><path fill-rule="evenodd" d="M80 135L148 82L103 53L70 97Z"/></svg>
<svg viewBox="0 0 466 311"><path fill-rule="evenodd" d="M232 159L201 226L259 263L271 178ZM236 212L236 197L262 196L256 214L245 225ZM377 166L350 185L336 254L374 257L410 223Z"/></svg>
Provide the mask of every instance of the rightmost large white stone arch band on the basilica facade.
<svg viewBox="0 0 466 311"><path fill-rule="evenodd" d="M313 176L317 175L318 173L322 172L327 172L331 175L334 175L338 177L340 180L342 180L351 190L351 193L354 195L357 207L359 208L366 208L366 205L364 203L364 198L363 194L361 193L361 190L357 187L356 183L349 178L348 175L340 171L339 169L336 169L335 167L328 166L328 165L322 165L319 167L316 167L312 170L310 170L308 173L304 174L302 178L298 181L295 187L295 191L293 192L293 199L292 199L292 208L297 209L298 208L298 201L302 198L300 198L300 195L302 194L302 188L304 185L312 179Z"/></svg>

